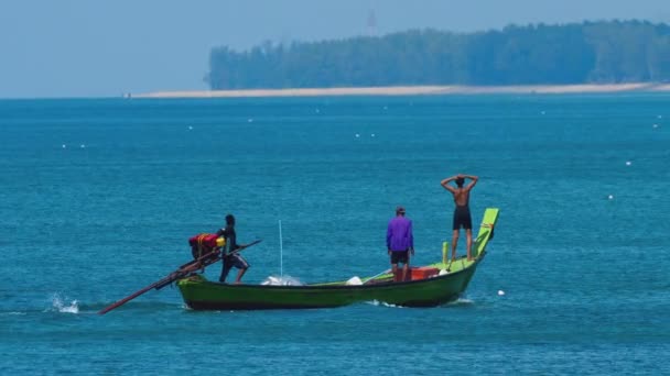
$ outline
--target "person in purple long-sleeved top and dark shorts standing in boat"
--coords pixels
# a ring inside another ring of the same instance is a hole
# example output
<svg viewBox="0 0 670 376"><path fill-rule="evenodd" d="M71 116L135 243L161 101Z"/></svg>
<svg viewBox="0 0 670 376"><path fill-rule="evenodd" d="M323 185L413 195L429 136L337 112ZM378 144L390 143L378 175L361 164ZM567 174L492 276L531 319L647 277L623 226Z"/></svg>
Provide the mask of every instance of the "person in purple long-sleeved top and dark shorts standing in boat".
<svg viewBox="0 0 670 376"><path fill-rule="evenodd" d="M410 268L410 252L414 255L412 221L404 218L404 208L396 208L396 217L389 221L386 231L386 247L391 256L393 281L406 280ZM402 279L398 278L398 263L403 263Z"/></svg>

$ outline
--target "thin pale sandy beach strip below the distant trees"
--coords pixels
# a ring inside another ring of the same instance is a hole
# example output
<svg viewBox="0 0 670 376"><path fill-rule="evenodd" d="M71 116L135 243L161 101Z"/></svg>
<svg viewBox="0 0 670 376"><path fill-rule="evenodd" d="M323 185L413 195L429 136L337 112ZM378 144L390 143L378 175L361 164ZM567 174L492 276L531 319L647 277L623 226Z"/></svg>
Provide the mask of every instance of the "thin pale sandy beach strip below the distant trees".
<svg viewBox="0 0 670 376"><path fill-rule="evenodd" d="M581 84L581 85L517 85L517 86L391 86L360 88L311 89L245 89L193 90L128 93L127 98L261 98L261 97L327 97L327 96L444 96L494 93L615 93L669 92L670 84Z"/></svg>

